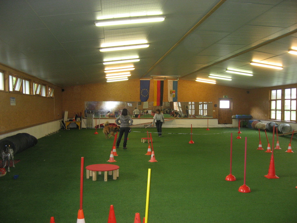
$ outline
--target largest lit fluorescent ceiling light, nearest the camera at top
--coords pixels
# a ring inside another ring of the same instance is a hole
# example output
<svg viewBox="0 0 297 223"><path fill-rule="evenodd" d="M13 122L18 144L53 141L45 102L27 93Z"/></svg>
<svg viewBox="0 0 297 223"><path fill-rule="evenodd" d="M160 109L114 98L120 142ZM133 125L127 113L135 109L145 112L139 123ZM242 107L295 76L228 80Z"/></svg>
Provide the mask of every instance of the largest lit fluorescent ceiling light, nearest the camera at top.
<svg viewBox="0 0 297 223"><path fill-rule="evenodd" d="M162 22L165 20L165 16L161 17L134 17L134 18L122 18L112 20L100 20L95 21L95 26L113 26L135 23L150 23L150 22Z"/></svg>

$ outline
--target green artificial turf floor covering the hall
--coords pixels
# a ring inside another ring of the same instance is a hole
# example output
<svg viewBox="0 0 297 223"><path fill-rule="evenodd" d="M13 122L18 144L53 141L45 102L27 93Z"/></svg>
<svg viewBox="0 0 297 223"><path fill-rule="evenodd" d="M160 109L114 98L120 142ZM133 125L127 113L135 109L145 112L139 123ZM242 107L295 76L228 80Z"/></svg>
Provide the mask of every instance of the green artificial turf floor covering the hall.
<svg viewBox="0 0 297 223"><path fill-rule="evenodd" d="M281 150L274 150L279 179L267 179L271 153L265 153L267 140L261 131L264 150L257 150L258 131L241 128L163 128L163 137L152 133L158 162L148 162L146 131L132 128L127 150L117 149L115 160L119 178L97 176L86 179L84 171L83 212L86 223L106 223L114 205L118 223L134 222L135 213L145 216L148 169L151 169L149 223L184 222L297 222L297 139L286 153L290 137L280 136ZM43 223L54 216L56 223L75 222L80 207L80 159L84 167L109 164L113 138L105 139L101 129L61 130L45 136L37 145L15 154L20 162L0 178L2 223ZM232 174L230 173L230 134L233 133ZM268 132L272 146L272 133ZM244 147L247 137L246 185L250 193L238 192L244 184ZM123 139L122 139L123 140ZM276 145L276 136L274 145ZM19 175L14 179L14 175Z"/></svg>

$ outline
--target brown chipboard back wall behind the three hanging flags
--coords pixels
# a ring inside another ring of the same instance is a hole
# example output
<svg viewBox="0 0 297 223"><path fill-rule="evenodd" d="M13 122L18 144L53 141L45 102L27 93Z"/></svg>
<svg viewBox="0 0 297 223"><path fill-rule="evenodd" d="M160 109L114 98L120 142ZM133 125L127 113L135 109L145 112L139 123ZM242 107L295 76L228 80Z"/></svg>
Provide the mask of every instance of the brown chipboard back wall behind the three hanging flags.
<svg viewBox="0 0 297 223"><path fill-rule="evenodd" d="M68 118L84 111L85 101L140 101L140 81L138 79L69 86L63 92L63 111L68 111ZM150 83L148 101L154 101L154 81ZM163 101L168 101L168 83L164 81ZM233 115L249 114L250 106L246 103L249 94L246 89L204 84L196 81L178 81L178 101L213 102L213 118L217 118L219 98L228 95L233 101Z"/></svg>

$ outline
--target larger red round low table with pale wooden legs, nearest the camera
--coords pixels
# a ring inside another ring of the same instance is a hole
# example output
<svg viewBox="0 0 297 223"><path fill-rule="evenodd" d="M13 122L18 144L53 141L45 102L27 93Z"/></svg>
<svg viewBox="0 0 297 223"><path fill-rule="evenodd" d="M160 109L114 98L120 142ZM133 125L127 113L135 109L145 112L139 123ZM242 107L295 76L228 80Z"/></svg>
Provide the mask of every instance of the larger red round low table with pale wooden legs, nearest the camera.
<svg viewBox="0 0 297 223"><path fill-rule="evenodd" d="M101 174L101 172L104 172L104 181L107 181L107 172L108 175L112 175L113 172L113 179L116 180L117 177L119 177L119 166L113 165L113 164L92 164L89 166L86 166L87 170L87 179L90 178L90 176L93 176L93 180L97 180L97 172Z"/></svg>

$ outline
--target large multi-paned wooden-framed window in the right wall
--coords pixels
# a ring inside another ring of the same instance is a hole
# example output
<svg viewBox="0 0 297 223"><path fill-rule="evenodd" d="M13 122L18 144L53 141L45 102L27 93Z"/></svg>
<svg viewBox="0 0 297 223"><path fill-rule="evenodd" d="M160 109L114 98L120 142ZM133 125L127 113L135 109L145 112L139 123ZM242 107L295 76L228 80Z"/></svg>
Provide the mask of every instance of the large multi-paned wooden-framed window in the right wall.
<svg viewBox="0 0 297 223"><path fill-rule="evenodd" d="M270 119L296 122L296 88L271 90Z"/></svg>

